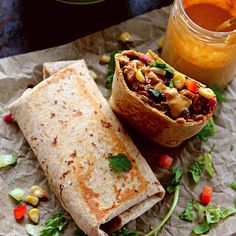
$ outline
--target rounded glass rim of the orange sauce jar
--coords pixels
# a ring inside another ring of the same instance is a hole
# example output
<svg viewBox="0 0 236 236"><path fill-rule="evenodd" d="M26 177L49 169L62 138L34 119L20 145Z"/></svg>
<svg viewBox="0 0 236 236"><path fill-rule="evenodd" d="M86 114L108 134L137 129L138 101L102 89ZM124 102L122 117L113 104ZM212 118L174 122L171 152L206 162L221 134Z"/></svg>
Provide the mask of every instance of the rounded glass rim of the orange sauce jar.
<svg viewBox="0 0 236 236"><path fill-rule="evenodd" d="M190 24L188 24L189 28L194 30L197 29L201 32L204 33L204 35L207 35L207 36L214 36L216 38L218 37L225 37L227 38L229 35L231 34L235 34L236 33L236 29L235 30L231 30L231 31L228 31L228 32L217 32L217 31L212 31L212 30L207 30L201 26L199 26L198 24L196 24L189 16L188 14L186 13L186 11L184 10L184 6L183 6L183 0L176 0L177 4L179 5L180 7L180 10L181 12L183 13L184 17L187 18L187 20L190 22Z"/></svg>

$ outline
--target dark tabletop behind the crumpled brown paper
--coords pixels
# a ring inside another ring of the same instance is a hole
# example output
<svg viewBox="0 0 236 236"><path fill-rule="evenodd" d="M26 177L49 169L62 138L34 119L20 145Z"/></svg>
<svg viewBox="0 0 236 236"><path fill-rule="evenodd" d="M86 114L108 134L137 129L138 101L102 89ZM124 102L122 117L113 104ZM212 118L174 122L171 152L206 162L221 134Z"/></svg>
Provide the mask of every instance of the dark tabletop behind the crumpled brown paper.
<svg viewBox="0 0 236 236"><path fill-rule="evenodd" d="M106 0L67 5L55 0L0 0L0 57L68 43L171 2Z"/></svg>

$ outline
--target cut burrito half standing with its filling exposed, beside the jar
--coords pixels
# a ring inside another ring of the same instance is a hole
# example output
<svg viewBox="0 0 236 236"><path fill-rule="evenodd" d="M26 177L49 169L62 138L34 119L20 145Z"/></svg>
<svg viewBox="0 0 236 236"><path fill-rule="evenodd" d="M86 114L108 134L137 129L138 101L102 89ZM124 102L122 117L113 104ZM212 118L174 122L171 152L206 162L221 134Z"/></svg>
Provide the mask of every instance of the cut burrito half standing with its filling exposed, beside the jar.
<svg viewBox="0 0 236 236"><path fill-rule="evenodd" d="M214 92L177 72L152 51L115 55L110 105L147 138L177 147L197 134L216 108Z"/></svg>

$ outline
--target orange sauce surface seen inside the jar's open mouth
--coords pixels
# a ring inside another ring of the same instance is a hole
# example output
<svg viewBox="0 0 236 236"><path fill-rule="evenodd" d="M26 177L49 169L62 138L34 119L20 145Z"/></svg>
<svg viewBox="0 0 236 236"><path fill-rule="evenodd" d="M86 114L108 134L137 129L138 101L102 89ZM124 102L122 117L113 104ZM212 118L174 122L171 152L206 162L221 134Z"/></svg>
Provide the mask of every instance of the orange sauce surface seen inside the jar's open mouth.
<svg viewBox="0 0 236 236"><path fill-rule="evenodd" d="M217 26L233 17L229 11L216 5L205 3L189 6L185 8L185 12L187 13L188 17L197 25L211 31L215 31ZM236 26L233 25L223 31L228 32L235 29Z"/></svg>

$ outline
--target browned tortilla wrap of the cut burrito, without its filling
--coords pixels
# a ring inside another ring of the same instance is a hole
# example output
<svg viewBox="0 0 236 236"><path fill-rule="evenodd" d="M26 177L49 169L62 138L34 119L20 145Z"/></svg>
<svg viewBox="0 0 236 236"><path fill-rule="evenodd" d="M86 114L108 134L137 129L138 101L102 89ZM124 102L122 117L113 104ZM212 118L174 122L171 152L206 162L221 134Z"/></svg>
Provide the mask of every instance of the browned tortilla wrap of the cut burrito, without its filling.
<svg viewBox="0 0 236 236"><path fill-rule="evenodd" d="M140 56L143 55L142 53L133 52L140 54ZM149 50L148 53L153 59L167 64L152 51ZM117 54L115 62L116 69L112 83L110 106L120 117L152 141L166 147L177 147L183 141L197 134L212 117L213 112L205 115L203 120L185 123L169 118L145 103L136 92L128 88ZM174 68L172 69L174 70Z"/></svg>

